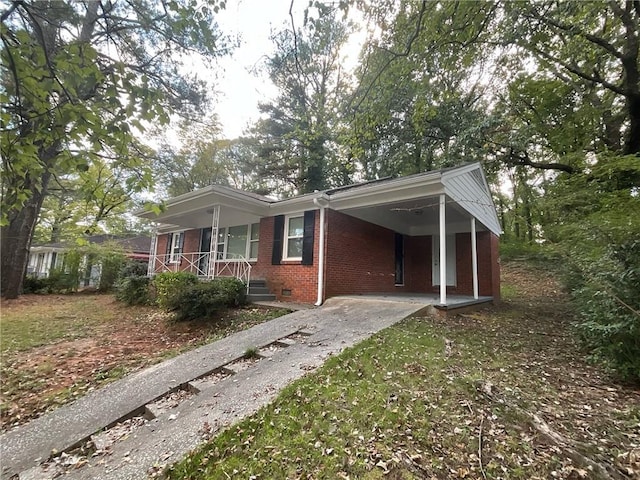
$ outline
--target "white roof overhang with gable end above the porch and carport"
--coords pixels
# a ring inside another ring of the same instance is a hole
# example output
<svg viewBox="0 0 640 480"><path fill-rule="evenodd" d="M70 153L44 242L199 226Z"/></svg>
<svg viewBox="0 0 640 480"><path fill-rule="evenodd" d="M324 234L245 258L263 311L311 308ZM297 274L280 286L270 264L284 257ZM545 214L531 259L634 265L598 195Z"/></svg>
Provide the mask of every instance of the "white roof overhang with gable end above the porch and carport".
<svg viewBox="0 0 640 480"><path fill-rule="evenodd" d="M438 233L439 198L445 195L447 231L468 232L471 217L478 230L499 235L500 223L479 163L270 200L218 185L169 200L162 213L136 212L161 223L160 232L211 226L220 205L221 227L258 222L260 218L318 208L316 201L362 220L406 235Z"/></svg>

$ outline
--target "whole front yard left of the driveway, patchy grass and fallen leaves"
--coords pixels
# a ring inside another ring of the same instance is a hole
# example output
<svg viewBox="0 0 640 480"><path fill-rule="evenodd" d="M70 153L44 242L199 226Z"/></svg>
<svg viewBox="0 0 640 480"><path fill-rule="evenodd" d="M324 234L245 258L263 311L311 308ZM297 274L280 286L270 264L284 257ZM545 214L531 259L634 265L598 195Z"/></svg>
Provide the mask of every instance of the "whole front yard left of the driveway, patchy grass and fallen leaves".
<svg viewBox="0 0 640 480"><path fill-rule="evenodd" d="M230 310L217 322L172 322L111 295L24 295L0 304L2 430L98 386L286 310Z"/></svg>

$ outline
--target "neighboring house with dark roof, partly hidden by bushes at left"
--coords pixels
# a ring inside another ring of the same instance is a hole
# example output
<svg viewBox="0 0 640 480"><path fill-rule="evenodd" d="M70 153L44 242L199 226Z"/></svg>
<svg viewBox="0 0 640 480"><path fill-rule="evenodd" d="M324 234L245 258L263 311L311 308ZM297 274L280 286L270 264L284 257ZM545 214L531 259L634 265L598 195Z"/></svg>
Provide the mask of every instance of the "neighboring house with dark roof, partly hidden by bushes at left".
<svg viewBox="0 0 640 480"><path fill-rule="evenodd" d="M138 237L118 237L115 235L93 235L85 239L89 244L101 245L113 243L124 250L127 258L149 261L149 249L151 238L146 236ZM47 243L43 245L32 245L29 249L29 263L27 265L27 275L38 278L49 276L49 272L54 268L64 266L65 253L70 249L77 248L77 245L70 242ZM88 265L85 258L83 264ZM100 278L100 265L91 265L87 269L83 279L83 286L96 285Z"/></svg>

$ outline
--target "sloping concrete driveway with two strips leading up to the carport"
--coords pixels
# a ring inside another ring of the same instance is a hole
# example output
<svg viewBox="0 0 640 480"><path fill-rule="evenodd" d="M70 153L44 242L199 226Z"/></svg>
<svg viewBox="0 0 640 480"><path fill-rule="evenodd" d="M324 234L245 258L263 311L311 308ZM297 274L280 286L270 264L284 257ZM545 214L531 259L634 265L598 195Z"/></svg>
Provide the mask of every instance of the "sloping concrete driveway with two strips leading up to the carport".
<svg viewBox="0 0 640 480"><path fill-rule="evenodd" d="M423 308L380 299L330 299L320 308L285 315L149 367L0 436L1 478L146 478L269 403L328 356ZM249 348L259 349L263 358L243 360ZM173 398L167 397L172 392ZM115 443L105 440L108 433L98 434L135 416L140 416L138 428ZM59 476L65 463L59 456L44 463L52 453L89 440L98 452L82 459L81 467L66 468Z"/></svg>

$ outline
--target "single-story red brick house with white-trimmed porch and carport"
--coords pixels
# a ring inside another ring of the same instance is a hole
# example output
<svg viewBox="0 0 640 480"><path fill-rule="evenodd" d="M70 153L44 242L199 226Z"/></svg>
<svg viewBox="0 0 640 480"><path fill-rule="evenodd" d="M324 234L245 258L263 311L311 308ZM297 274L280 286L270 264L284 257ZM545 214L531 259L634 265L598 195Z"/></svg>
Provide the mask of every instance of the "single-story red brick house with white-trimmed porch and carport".
<svg viewBox="0 0 640 480"><path fill-rule="evenodd" d="M478 163L284 200L212 185L136 214L157 222L150 275L262 280L279 300L318 305L345 294L435 293L441 305L500 295L501 229Z"/></svg>

